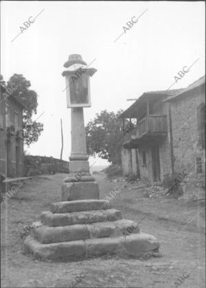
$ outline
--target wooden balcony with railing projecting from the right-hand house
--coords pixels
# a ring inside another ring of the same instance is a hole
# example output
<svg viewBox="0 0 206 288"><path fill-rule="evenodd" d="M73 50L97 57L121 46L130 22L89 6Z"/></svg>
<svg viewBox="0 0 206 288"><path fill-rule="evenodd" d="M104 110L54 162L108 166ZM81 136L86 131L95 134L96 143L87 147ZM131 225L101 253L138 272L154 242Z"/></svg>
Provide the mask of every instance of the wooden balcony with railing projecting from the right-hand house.
<svg viewBox="0 0 206 288"><path fill-rule="evenodd" d="M141 119L131 132L126 133L124 147L137 148L148 141L161 140L167 134L167 116L148 115Z"/></svg>

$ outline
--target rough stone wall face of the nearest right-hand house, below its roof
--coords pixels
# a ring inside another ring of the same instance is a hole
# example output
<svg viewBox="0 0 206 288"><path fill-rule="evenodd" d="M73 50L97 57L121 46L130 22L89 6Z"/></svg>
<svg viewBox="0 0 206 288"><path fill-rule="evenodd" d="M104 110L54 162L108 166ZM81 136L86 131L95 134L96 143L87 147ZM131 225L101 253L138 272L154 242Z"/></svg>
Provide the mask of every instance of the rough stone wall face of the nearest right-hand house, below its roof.
<svg viewBox="0 0 206 288"><path fill-rule="evenodd" d="M204 163L205 149L198 147L197 125L197 107L204 101L203 93L190 91L171 103L174 171L177 173L183 169L196 173L196 157L201 157Z"/></svg>

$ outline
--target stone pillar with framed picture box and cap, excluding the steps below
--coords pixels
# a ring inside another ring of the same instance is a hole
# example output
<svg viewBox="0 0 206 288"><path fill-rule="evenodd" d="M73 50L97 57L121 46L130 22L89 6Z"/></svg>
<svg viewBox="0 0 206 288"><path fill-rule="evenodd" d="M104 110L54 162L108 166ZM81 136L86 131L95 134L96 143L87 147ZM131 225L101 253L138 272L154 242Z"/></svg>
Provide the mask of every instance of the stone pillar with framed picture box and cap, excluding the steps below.
<svg viewBox="0 0 206 288"><path fill-rule="evenodd" d="M83 111L83 107L91 106L89 78L97 70L88 68L78 54L69 55L64 67L67 107L71 108L71 155L69 176L62 185L62 201L99 199L98 183L89 172Z"/></svg>

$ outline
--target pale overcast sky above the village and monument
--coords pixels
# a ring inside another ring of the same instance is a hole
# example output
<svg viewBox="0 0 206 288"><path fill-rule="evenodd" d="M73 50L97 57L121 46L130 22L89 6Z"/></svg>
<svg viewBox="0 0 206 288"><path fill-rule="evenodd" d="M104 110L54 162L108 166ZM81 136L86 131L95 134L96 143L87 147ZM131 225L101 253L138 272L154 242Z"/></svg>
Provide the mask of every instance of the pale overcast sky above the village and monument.
<svg viewBox="0 0 206 288"><path fill-rule="evenodd" d="M23 23L37 15L19 34ZM122 34L123 26L140 15ZM197 59L172 88L186 87L205 74L205 2L1 1L1 74L5 81L14 73L30 80L38 94L34 120L45 112L38 119L44 131L27 149L32 155L60 158L62 118L63 159L69 158L70 109L61 74L72 53L81 54L87 64L95 59L91 67L98 69L91 77L92 106L84 108L86 125L101 110L125 110L133 104L128 98L167 90L174 76ZM105 160L95 163L102 164Z"/></svg>

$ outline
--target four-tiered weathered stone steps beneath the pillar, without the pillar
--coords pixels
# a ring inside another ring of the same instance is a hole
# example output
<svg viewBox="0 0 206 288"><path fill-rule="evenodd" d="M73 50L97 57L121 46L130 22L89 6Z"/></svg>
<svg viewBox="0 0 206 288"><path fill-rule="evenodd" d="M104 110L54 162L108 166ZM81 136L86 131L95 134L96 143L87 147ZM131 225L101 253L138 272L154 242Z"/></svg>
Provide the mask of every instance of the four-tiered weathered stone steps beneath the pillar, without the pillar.
<svg viewBox="0 0 206 288"><path fill-rule="evenodd" d="M41 224L31 230L25 247L37 259L78 260L105 254L140 256L157 251L159 242L139 232L137 223L122 219L106 200L75 200L51 204Z"/></svg>

